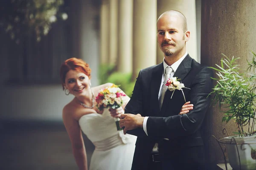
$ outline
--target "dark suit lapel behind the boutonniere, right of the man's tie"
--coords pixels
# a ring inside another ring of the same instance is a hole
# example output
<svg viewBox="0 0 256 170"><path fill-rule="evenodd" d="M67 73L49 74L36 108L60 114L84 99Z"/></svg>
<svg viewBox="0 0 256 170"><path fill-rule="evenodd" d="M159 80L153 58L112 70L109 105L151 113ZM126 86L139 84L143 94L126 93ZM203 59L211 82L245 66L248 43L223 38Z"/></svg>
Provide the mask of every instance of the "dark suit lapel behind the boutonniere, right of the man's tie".
<svg viewBox="0 0 256 170"><path fill-rule="evenodd" d="M182 82L182 80L186 77L186 75L189 73L191 70L191 63L192 63L192 58L189 56L189 54L183 59L183 61L180 63L179 67L175 71L175 74L173 77L177 77L177 79L180 79L179 81ZM163 116L167 106L171 102L171 96L172 96L173 91L166 91L166 94L163 99L163 105L160 111L160 116Z"/></svg>

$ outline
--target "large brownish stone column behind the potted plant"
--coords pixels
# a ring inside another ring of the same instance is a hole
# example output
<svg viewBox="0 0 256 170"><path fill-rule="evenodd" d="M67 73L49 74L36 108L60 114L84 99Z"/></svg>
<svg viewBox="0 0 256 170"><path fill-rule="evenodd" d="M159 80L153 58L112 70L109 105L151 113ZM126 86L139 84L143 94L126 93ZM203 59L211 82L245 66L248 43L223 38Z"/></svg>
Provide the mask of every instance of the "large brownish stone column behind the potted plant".
<svg viewBox="0 0 256 170"><path fill-rule="evenodd" d="M250 51L256 51L256 1L213 1L202 0L202 26L201 26L201 63L208 66L220 65L223 57L241 57L239 68L247 69L247 59L253 55ZM216 76L215 76L216 77ZM212 111L212 113L211 113ZM221 139L227 135L222 134L226 128L230 136L232 132L238 131L236 125L230 122L222 123L223 113L218 106L211 108L207 113L208 125L205 128ZM211 140L209 150L210 161L219 163L224 161L221 149L215 140Z"/></svg>

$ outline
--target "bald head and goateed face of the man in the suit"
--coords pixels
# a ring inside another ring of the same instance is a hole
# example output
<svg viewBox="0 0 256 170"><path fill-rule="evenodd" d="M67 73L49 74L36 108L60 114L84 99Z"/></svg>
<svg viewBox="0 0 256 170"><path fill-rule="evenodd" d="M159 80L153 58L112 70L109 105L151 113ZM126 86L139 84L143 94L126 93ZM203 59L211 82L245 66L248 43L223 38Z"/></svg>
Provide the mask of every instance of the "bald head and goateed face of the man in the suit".
<svg viewBox="0 0 256 170"><path fill-rule="evenodd" d="M186 52L186 33L183 19L179 15L166 14L157 21L157 42L165 56Z"/></svg>

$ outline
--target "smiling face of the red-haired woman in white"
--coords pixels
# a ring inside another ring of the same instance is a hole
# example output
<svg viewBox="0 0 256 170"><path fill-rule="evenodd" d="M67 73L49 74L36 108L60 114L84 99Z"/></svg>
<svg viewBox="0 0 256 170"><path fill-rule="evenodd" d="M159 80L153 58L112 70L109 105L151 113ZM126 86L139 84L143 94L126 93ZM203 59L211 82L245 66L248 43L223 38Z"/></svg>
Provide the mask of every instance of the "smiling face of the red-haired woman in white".
<svg viewBox="0 0 256 170"><path fill-rule="evenodd" d="M66 74L64 86L74 96L87 95L90 88L90 79L82 72L70 70Z"/></svg>

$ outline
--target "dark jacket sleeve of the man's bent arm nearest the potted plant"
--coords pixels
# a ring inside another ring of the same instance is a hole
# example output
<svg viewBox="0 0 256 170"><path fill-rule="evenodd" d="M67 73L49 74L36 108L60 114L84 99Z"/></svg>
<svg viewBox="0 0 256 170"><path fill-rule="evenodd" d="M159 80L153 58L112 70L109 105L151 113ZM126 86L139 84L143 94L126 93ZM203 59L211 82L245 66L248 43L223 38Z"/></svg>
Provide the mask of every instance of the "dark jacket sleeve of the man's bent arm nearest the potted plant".
<svg viewBox="0 0 256 170"><path fill-rule="evenodd" d="M208 96L212 91L211 77L213 77L213 72L208 67L202 68L195 76L190 86L190 101L194 106L189 113L169 117L149 117L148 136L172 138L195 133L201 127L211 103L211 97Z"/></svg>

